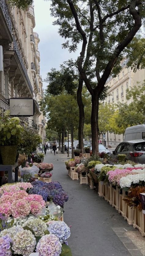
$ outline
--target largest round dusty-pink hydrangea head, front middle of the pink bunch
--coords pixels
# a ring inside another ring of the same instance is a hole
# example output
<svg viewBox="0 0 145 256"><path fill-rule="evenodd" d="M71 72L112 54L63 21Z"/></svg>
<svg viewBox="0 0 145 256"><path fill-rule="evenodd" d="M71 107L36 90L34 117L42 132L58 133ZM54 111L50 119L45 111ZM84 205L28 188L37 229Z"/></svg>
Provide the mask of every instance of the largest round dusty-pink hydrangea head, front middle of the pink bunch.
<svg viewBox="0 0 145 256"><path fill-rule="evenodd" d="M28 216L30 210L31 205L24 198L16 200L11 204L11 212L14 218L18 218L20 216Z"/></svg>

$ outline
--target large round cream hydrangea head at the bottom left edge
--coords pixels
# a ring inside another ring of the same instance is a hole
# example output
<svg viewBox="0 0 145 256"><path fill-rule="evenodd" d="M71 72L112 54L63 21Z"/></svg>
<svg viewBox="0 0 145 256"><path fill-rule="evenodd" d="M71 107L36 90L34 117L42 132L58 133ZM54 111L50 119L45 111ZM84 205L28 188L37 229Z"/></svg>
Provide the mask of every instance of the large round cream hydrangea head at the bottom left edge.
<svg viewBox="0 0 145 256"><path fill-rule="evenodd" d="M35 236L30 230L20 230L13 236L12 250L14 254L29 256L36 246Z"/></svg>

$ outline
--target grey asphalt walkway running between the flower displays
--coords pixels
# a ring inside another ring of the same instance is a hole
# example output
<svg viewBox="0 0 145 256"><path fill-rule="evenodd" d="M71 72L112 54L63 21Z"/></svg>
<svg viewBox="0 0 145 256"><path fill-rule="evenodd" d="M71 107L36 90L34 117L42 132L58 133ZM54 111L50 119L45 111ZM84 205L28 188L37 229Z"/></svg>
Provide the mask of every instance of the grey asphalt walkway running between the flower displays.
<svg viewBox="0 0 145 256"><path fill-rule="evenodd" d="M124 218L88 185L72 181L65 167L67 155L46 152L44 162L52 162L52 181L57 180L69 195L64 205L64 221L71 226L68 239L73 256L130 256L117 236L117 229L134 230ZM118 231L119 231L118 230ZM137 255L137 254L132 254Z"/></svg>

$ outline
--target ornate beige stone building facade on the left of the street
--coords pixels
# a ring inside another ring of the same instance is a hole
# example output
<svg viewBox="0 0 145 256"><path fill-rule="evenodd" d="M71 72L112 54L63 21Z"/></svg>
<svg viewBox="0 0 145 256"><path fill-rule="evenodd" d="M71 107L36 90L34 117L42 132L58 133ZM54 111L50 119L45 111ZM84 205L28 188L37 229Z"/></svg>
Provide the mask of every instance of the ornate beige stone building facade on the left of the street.
<svg viewBox="0 0 145 256"><path fill-rule="evenodd" d="M35 114L21 118L45 140L45 117L39 109L43 97L40 76L39 36L35 27L34 7L23 11L0 0L0 45L3 70L0 72L0 108L9 109L9 98L33 98Z"/></svg>

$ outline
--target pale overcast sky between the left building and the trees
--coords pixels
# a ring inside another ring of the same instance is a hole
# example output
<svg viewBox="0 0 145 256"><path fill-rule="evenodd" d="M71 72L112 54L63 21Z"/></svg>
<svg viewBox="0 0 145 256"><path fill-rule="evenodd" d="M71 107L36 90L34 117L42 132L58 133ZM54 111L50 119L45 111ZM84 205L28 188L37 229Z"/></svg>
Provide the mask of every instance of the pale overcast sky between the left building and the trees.
<svg viewBox="0 0 145 256"><path fill-rule="evenodd" d="M61 44L65 42L58 34L58 26L53 26L54 18L50 16L50 1L34 0L35 28L39 34L38 50L40 52L40 75L42 79L51 68L59 69L60 64L68 59L76 59L80 50L76 53L69 53L67 49L62 49ZM47 83L43 82L46 89Z"/></svg>

